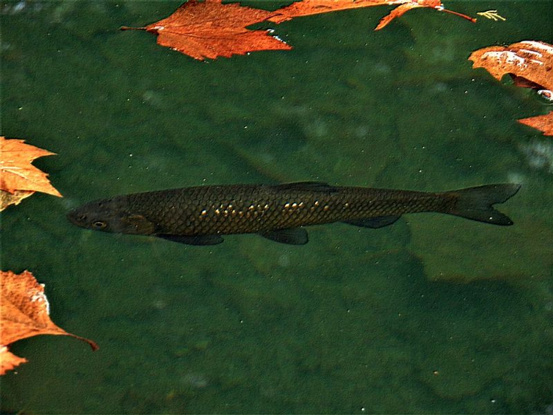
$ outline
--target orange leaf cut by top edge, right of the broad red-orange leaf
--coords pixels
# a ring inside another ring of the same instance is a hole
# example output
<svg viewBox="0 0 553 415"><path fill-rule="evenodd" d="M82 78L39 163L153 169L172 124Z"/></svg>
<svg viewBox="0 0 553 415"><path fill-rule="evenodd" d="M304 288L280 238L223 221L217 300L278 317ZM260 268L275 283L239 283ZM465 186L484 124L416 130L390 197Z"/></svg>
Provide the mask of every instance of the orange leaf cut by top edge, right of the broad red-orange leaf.
<svg viewBox="0 0 553 415"><path fill-rule="evenodd" d="M294 17L318 15L319 13L335 12L337 10L346 10L351 8L390 4L399 4L400 6L393 9L386 17L383 17L378 26L376 26L375 30L384 28L384 26L396 17L403 15L407 10L418 7L434 8L443 12L453 13L453 15L458 15L473 22L476 21L476 19L473 19L472 17L444 9L444 6L440 0L302 0L292 3L290 6L275 10L275 15L270 17L269 21L281 23L283 21L293 19Z"/></svg>

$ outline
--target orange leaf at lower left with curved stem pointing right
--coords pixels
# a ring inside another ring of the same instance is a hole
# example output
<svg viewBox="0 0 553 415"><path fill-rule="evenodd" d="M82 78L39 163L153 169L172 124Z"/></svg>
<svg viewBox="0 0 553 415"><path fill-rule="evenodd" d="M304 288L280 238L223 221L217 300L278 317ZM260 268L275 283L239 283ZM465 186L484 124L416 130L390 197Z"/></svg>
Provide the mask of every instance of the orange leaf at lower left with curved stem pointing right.
<svg viewBox="0 0 553 415"><path fill-rule="evenodd" d="M0 277L0 375L27 361L10 353L8 344L33 335L70 335L87 342L93 350L98 349L92 340L67 333L50 320L44 286L29 271L19 275L1 271Z"/></svg>

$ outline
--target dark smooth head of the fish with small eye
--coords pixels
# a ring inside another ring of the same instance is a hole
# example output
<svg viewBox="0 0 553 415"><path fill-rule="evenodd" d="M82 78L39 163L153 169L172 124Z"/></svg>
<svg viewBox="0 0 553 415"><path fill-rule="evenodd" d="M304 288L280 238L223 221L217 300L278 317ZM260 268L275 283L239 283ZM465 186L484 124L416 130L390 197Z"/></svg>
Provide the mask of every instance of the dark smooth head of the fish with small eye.
<svg viewBox="0 0 553 415"><path fill-rule="evenodd" d="M145 216L129 212L120 198L86 203L67 213L67 219L81 228L124 234L153 234L156 225Z"/></svg>

